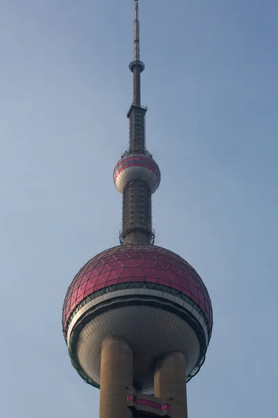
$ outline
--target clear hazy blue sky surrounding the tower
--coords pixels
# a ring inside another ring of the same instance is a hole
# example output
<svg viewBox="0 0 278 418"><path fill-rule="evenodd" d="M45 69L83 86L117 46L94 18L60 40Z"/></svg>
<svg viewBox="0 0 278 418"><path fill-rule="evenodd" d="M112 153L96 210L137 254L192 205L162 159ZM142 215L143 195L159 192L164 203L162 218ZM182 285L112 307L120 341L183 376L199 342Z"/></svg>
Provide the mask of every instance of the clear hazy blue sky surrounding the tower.
<svg viewBox="0 0 278 418"><path fill-rule="evenodd" d="M141 0L158 242L214 308L190 418L277 418L277 0ZM67 286L117 245L132 0L0 3L0 412L98 416L70 364Z"/></svg>

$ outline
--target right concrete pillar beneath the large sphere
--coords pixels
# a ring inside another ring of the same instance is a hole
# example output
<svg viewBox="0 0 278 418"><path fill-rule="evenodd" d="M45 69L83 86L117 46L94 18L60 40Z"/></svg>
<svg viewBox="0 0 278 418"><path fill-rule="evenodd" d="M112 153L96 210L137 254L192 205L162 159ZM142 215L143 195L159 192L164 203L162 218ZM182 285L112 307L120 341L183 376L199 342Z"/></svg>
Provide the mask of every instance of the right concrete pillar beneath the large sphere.
<svg viewBox="0 0 278 418"><path fill-rule="evenodd" d="M172 418L187 418L186 360L181 353L170 353L154 369L154 396L171 398Z"/></svg>

